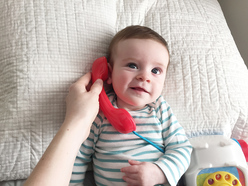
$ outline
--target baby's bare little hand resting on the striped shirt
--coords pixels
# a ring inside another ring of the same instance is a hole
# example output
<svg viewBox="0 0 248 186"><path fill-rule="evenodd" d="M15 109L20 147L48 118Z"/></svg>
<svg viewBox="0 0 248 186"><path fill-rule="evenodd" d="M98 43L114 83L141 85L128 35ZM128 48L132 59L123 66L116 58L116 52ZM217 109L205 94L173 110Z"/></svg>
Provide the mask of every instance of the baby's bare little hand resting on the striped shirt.
<svg viewBox="0 0 248 186"><path fill-rule="evenodd" d="M128 160L130 166L123 167L125 173L123 180L132 186L151 186L166 183L166 177L162 170L155 164Z"/></svg>

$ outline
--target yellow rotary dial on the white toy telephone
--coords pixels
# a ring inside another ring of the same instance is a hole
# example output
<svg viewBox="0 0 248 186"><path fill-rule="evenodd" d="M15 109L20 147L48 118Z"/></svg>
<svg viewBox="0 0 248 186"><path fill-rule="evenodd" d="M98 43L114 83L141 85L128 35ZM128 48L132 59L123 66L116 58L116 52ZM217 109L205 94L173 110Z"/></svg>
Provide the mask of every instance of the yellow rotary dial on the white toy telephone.
<svg viewBox="0 0 248 186"><path fill-rule="evenodd" d="M203 186L242 186L238 178L229 172L218 171L210 174Z"/></svg>

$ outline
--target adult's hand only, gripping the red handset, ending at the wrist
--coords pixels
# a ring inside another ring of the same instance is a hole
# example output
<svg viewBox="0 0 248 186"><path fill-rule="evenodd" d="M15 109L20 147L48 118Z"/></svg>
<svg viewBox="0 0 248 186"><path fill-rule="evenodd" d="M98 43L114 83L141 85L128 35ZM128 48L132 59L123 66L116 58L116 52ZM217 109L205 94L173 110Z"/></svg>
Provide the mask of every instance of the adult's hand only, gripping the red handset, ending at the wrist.
<svg viewBox="0 0 248 186"><path fill-rule="evenodd" d="M91 73L82 76L72 84L66 98L65 123L78 124L86 123L85 128L90 129L99 110L99 94L103 82L98 79L93 85L90 84Z"/></svg>

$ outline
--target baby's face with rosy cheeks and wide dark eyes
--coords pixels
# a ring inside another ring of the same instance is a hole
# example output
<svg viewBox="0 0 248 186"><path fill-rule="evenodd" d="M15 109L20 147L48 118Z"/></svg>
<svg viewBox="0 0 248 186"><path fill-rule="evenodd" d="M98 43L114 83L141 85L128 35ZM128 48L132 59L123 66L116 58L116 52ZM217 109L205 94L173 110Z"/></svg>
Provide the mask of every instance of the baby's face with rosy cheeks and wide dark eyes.
<svg viewBox="0 0 248 186"><path fill-rule="evenodd" d="M121 40L112 57L110 80L119 108L139 110L160 96L169 62L164 45L151 39Z"/></svg>

